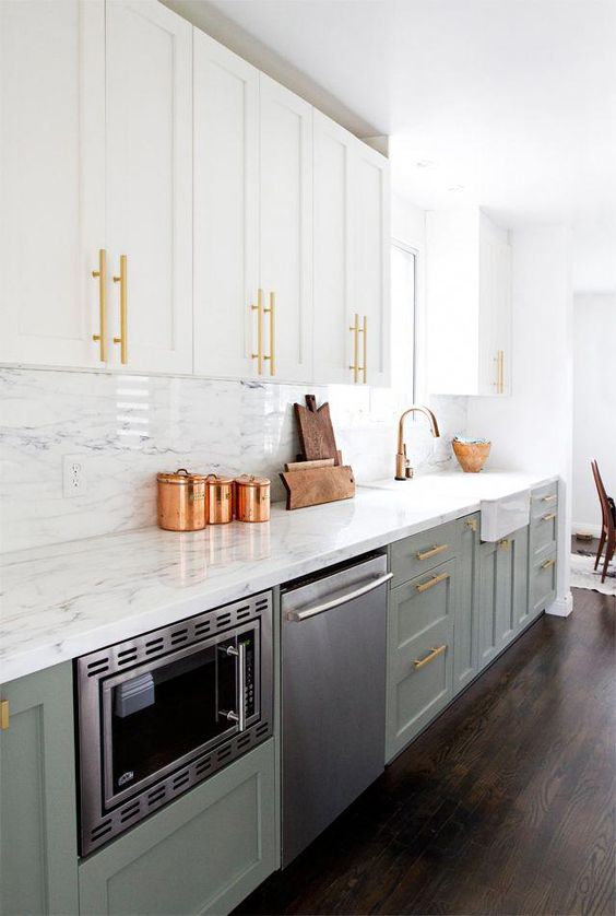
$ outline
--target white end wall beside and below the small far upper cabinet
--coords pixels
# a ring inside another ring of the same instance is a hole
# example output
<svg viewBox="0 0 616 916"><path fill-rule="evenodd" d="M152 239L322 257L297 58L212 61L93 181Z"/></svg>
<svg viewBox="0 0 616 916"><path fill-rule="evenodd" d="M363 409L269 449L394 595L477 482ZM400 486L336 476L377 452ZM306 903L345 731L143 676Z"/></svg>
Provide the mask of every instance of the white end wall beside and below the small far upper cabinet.
<svg viewBox="0 0 616 916"><path fill-rule="evenodd" d="M493 467L560 475L558 594L552 610L565 614L571 609L570 237L561 226L534 226L513 232L511 243L512 394L508 398L469 398L469 433L491 439Z"/></svg>

